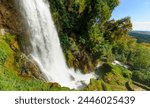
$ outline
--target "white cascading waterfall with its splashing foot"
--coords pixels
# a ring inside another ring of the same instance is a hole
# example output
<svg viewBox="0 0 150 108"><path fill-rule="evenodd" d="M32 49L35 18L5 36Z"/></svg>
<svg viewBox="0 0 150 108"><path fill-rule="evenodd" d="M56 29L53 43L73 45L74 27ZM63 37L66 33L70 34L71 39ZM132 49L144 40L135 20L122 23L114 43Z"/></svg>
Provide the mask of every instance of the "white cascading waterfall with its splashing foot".
<svg viewBox="0 0 150 108"><path fill-rule="evenodd" d="M94 74L74 72L65 63L48 1L18 0L17 4L30 35L31 55L48 81L70 88L80 88L83 83L88 84Z"/></svg>

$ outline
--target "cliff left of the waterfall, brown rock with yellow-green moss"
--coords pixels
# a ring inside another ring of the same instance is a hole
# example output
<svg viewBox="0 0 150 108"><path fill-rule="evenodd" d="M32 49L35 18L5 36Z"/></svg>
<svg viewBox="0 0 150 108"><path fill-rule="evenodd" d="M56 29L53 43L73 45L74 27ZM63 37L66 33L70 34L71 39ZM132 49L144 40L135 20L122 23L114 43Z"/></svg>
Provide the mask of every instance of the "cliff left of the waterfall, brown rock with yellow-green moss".
<svg viewBox="0 0 150 108"><path fill-rule="evenodd" d="M34 60L21 53L27 54L29 51L26 49L29 37L26 35L25 25L15 1L0 0L0 74L4 67L13 67L12 70L18 71L18 74L22 75L22 72L25 72L22 76L46 81Z"/></svg>

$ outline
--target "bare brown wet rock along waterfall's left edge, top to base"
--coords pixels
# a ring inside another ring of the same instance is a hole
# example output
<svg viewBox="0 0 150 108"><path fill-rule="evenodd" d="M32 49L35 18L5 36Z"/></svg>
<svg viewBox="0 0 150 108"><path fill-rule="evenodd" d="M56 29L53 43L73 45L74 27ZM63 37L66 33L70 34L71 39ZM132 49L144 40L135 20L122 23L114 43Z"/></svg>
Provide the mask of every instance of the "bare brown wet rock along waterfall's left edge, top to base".
<svg viewBox="0 0 150 108"><path fill-rule="evenodd" d="M21 50L28 55L31 52L31 49L27 49L26 47L30 44L29 36L26 33L27 30L25 29L23 18L15 1L16 0L0 0L0 35L6 33L16 35L16 41L14 41L10 47L15 52ZM24 53L17 52L15 55L19 64L20 75L34 77L46 82L47 77L41 72L36 62Z"/></svg>

